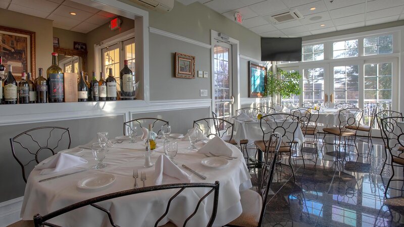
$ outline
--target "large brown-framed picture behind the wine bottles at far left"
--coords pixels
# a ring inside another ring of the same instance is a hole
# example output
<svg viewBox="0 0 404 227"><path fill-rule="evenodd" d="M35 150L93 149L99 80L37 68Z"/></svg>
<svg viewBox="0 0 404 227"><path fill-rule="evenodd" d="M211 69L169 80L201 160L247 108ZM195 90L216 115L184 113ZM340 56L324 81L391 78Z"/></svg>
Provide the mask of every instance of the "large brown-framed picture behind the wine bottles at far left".
<svg viewBox="0 0 404 227"><path fill-rule="evenodd" d="M17 81L23 72L35 78L35 32L0 26L0 55L6 69L13 66Z"/></svg>

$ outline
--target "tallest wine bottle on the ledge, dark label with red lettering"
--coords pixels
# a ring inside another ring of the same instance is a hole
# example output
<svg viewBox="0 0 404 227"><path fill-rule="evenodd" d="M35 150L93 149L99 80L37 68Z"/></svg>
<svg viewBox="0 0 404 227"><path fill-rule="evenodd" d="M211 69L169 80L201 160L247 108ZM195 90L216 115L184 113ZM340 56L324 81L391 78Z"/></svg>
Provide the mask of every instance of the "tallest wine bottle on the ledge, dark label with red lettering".
<svg viewBox="0 0 404 227"><path fill-rule="evenodd" d="M64 77L63 70L59 67L58 53L52 53L52 66L47 68L47 85L49 86L49 102L64 102Z"/></svg>

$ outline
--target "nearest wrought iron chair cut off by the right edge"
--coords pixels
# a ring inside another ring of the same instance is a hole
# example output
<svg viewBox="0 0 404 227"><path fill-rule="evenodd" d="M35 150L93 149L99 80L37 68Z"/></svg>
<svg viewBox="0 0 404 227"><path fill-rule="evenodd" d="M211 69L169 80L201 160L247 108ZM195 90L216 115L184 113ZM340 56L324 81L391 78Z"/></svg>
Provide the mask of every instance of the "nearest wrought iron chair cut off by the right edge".
<svg viewBox="0 0 404 227"><path fill-rule="evenodd" d="M382 132L386 138L387 147L391 156L392 174L388 180L384 194L387 194L391 181L404 181L394 178L394 166L404 167L404 121L403 117L389 117L381 119ZM400 122L401 126L397 124Z"/></svg>

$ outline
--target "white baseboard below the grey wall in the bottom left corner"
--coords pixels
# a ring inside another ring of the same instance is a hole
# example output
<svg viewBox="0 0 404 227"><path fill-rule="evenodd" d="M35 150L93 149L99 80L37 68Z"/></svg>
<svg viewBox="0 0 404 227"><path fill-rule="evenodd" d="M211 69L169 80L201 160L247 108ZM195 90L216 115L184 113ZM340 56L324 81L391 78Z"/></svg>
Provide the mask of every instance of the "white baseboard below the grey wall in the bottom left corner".
<svg viewBox="0 0 404 227"><path fill-rule="evenodd" d="M0 203L0 227L21 220L20 212L24 196Z"/></svg>

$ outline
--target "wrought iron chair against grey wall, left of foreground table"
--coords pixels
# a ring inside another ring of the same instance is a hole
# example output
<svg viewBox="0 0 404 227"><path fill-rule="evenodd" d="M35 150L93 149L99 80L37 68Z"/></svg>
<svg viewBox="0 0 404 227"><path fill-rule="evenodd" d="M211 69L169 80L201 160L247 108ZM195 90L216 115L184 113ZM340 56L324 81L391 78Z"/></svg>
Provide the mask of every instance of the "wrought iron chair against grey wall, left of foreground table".
<svg viewBox="0 0 404 227"><path fill-rule="evenodd" d="M48 137L41 138L41 136L45 136L47 133L49 134ZM26 173L32 171L32 164L36 165L46 157L56 154L58 151L69 149L70 143L71 137L69 128L57 126L33 128L10 138L11 151L13 152L14 158L21 166L22 178L25 183L27 183ZM17 147L17 144L19 144L19 147L21 148ZM47 156L42 154L46 151L48 154ZM25 155L19 155L22 152L24 152ZM32 156L33 159L27 160L27 158L32 158ZM25 168L29 165L32 166L30 166L26 172Z"/></svg>

